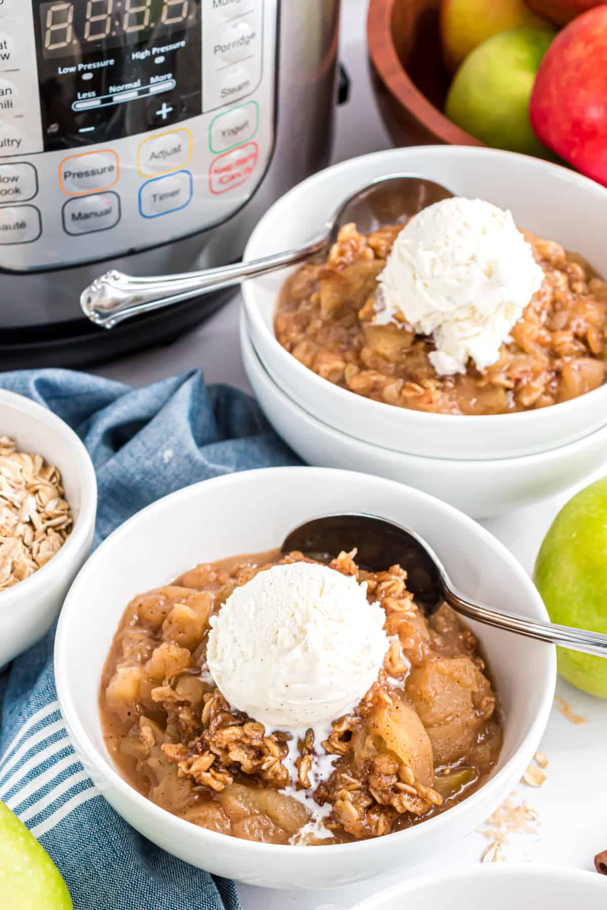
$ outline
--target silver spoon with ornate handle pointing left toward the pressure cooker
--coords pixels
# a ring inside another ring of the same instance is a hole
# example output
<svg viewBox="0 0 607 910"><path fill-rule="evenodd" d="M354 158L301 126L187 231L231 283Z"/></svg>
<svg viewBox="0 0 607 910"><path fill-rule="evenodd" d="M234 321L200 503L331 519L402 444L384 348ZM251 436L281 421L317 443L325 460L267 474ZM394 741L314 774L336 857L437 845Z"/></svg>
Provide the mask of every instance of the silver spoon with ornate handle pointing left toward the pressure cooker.
<svg viewBox="0 0 607 910"><path fill-rule="evenodd" d="M323 253L337 239L339 228L350 221L354 221L361 232L368 234L383 225L404 224L422 208L452 196L440 184L415 174L378 177L349 196L329 218L319 236L303 247L252 262L238 262L233 266L207 268L182 275L137 278L113 269L96 278L82 292L80 306L97 326L112 329L118 322L151 309L229 288L245 278L255 278Z"/></svg>

